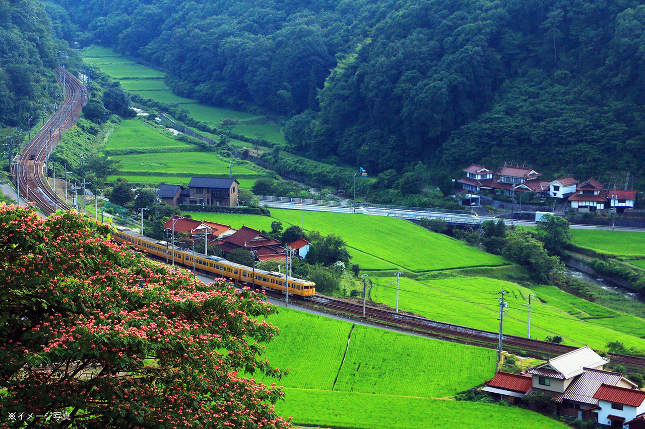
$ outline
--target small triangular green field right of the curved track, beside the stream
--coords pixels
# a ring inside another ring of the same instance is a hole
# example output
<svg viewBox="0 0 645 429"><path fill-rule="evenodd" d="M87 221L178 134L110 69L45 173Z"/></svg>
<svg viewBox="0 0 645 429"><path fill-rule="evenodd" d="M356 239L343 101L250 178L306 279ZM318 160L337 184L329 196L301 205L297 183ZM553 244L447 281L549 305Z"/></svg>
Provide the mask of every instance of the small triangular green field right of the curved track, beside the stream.
<svg viewBox="0 0 645 429"><path fill-rule="evenodd" d="M105 149L186 148L188 144L158 133L139 120L127 119L110 135Z"/></svg>

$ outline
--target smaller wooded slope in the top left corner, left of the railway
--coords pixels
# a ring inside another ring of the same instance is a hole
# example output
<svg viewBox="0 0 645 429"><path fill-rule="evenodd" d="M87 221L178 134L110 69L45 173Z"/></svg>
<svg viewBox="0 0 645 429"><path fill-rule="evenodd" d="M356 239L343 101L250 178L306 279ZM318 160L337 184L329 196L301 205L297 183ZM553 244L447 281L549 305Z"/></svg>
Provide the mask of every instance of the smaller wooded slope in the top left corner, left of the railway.
<svg viewBox="0 0 645 429"><path fill-rule="evenodd" d="M39 1L0 0L0 128L26 129L60 92L54 71L59 42L52 33Z"/></svg>

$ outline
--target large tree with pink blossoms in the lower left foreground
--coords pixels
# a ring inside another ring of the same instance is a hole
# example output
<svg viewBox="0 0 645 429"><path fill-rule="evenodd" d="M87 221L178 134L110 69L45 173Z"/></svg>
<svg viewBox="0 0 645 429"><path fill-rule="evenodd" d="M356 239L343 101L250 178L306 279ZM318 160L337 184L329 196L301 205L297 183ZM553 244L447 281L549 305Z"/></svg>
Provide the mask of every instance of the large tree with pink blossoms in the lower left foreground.
<svg viewBox="0 0 645 429"><path fill-rule="evenodd" d="M275 307L109 233L0 205L0 426L292 427L273 410L283 392L244 376L282 374L260 357Z"/></svg>

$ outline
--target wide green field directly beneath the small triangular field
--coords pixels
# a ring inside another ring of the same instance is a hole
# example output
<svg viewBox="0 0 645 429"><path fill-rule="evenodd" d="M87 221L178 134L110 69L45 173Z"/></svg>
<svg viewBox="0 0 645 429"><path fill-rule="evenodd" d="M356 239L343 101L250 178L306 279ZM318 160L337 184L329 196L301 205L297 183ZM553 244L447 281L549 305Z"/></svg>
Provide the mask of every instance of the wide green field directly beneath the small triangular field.
<svg viewBox="0 0 645 429"><path fill-rule="evenodd" d="M121 170L130 172L150 172L164 174L186 175L226 175L228 176L228 159L213 152L183 152L183 153L139 153L136 155L118 155L110 157L121 162ZM233 175L262 176L261 173L247 167L235 166Z"/></svg>

